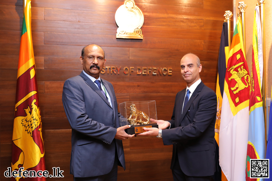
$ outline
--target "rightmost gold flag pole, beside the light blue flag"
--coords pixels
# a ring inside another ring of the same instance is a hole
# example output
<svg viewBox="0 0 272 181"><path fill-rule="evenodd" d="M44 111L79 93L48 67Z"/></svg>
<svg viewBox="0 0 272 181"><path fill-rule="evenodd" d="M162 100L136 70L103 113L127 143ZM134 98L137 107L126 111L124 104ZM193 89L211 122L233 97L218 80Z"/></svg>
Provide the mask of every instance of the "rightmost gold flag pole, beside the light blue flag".
<svg viewBox="0 0 272 181"><path fill-rule="evenodd" d="M264 109L264 129L265 129L265 139L266 139L266 61L265 61L265 28L264 28L264 2L265 0L258 0L259 6L261 7L261 26L262 26L262 43L263 43L263 82L262 82L262 95L263 95L263 109ZM266 142L265 142L266 145Z"/></svg>

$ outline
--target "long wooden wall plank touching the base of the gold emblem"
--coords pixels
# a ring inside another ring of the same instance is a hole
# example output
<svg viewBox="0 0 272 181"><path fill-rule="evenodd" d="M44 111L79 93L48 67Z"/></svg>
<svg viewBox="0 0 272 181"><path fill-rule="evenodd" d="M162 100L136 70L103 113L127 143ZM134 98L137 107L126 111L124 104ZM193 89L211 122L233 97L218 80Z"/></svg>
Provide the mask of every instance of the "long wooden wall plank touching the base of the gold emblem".
<svg viewBox="0 0 272 181"><path fill-rule="evenodd" d="M89 43L99 44L109 47L128 47L128 48L161 48L161 49L195 49L203 50L202 40L184 40L169 38L150 38L144 40L123 40L116 39L116 36L109 35L85 35L68 33L44 33L44 44L50 45L76 45L82 46Z"/></svg>

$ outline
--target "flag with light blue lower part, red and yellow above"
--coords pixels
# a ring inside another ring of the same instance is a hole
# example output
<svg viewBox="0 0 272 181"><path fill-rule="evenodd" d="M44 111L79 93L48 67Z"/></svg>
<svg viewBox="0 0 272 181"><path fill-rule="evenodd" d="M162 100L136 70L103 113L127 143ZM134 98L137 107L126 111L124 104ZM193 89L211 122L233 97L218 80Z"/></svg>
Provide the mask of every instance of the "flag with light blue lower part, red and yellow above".
<svg viewBox="0 0 272 181"><path fill-rule="evenodd" d="M263 75L263 48L259 6L256 6L253 24L252 68L249 99L249 129L248 149L246 160L246 181L263 181L264 179L250 179L250 159L264 159L264 111L261 94Z"/></svg>

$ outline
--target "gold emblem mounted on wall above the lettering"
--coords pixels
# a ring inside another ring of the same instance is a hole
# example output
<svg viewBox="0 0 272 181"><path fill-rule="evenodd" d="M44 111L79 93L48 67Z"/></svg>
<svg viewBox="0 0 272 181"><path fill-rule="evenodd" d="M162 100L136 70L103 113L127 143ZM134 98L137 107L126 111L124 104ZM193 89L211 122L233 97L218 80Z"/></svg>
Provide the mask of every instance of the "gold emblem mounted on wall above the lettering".
<svg viewBox="0 0 272 181"><path fill-rule="evenodd" d="M116 38L144 38L141 30L144 14L133 0L125 0L124 4L117 9L115 21L118 25Z"/></svg>

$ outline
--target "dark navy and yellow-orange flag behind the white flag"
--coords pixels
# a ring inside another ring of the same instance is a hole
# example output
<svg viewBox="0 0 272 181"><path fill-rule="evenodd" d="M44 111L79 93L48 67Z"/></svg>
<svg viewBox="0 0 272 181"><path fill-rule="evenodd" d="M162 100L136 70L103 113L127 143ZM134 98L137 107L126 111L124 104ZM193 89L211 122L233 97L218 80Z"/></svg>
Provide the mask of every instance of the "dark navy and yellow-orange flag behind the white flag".
<svg viewBox="0 0 272 181"><path fill-rule="evenodd" d="M223 23L221 42L219 48L219 57L218 57L218 73L217 73L217 83L216 83L216 96L217 96L217 113L216 113L216 122L215 122L215 135L214 138L215 148L216 148L216 157L219 164L219 130L220 130L220 119L221 119L221 109L222 109L222 97L224 92L224 82L226 75L226 60L228 60L228 23ZM226 177L221 173L221 168L215 172L213 179L215 181L226 181Z"/></svg>

